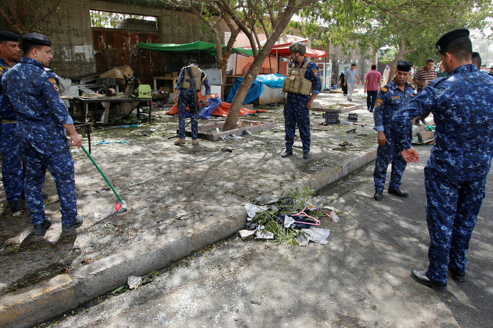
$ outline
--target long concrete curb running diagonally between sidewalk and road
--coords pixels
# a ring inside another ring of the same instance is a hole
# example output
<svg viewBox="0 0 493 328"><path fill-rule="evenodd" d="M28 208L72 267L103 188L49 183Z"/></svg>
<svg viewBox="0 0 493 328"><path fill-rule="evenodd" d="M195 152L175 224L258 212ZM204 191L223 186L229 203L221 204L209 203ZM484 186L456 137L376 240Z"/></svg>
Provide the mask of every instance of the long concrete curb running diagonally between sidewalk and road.
<svg viewBox="0 0 493 328"><path fill-rule="evenodd" d="M327 166L289 184L309 185L316 192L375 160L377 146L352 155L342 165ZM283 187L273 194L282 195ZM125 284L129 276L143 276L191 252L229 237L246 224L243 206L216 213L162 236L148 237L127 251L85 265L69 274L0 297L0 327L31 327L50 320ZM145 253L145 256L142 254Z"/></svg>

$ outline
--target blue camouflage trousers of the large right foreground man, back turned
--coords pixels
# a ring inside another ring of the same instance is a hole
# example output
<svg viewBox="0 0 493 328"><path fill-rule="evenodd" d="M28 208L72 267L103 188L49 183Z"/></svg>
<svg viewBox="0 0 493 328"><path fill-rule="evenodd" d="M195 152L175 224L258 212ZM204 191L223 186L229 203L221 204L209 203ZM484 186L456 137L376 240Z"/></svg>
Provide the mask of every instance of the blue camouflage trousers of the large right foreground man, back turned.
<svg viewBox="0 0 493 328"><path fill-rule="evenodd" d="M426 221L430 234L428 278L447 283L447 269L465 272L466 252L485 197L486 178L457 182L424 168Z"/></svg>

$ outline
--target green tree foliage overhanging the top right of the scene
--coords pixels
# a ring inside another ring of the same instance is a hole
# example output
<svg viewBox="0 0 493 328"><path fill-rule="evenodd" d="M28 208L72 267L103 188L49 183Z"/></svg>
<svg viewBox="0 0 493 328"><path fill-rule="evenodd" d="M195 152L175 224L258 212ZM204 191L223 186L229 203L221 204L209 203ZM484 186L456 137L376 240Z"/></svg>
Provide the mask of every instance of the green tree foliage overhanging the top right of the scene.
<svg viewBox="0 0 493 328"><path fill-rule="evenodd" d="M491 28L492 0L321 0L298 12L299 22L291 26L310 37L312 44L328 42L343 48L359 47L374 54L393 46L398 56L422 63L437 59L436 40L456 28L479 34Z"/></svg>

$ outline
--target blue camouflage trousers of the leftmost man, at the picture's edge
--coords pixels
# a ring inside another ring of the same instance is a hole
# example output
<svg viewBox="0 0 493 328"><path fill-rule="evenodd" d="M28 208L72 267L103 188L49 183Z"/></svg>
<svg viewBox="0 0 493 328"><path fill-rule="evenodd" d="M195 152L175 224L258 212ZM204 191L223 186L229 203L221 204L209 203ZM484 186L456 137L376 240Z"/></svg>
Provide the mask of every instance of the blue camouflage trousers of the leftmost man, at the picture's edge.
<svg viewBox="0 0 493 328"><path fill-rule="evenodd" d="M1 174L8 202L24 196L24 171L16 131L17 124L2 124L0 127Z"/></svg>

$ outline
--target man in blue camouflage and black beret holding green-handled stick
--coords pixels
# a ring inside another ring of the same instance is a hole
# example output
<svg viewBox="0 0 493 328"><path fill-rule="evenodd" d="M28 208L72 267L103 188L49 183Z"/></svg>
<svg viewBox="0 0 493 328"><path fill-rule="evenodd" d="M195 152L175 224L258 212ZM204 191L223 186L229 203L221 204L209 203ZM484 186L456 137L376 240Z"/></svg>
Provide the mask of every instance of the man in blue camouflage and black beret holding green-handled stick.
<svg viewBox="0 0 493 328"><path fill-rule="evenodd" d="M37 235L43 235L52 220L45 216L41 187L46 169L55 180L62 231L82 225L77 216L73 159L67 140L80 147L82 140L73 127L67 107L60 97L59 78L48 66L51 41L40 33L22 38L24 58L3 74L3 100L8 100L17 114L17 139L25 165L24 193L29 216Z"/></svg>

